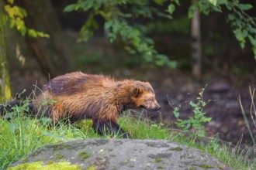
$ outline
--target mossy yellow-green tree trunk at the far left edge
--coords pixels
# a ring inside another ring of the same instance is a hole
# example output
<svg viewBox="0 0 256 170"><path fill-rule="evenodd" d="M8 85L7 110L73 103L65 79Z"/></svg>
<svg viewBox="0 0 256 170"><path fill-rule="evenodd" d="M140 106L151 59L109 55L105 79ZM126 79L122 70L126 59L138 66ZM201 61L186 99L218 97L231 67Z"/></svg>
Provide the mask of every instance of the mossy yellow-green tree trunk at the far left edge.
<svg viewBox="0 0 256 170"><path fill-rule="evenodd" d="M3 3L0 0L0 101L9 100L12 97L10 87L9 69L6 62L5 46L5 15L3 15Z"/></svg>

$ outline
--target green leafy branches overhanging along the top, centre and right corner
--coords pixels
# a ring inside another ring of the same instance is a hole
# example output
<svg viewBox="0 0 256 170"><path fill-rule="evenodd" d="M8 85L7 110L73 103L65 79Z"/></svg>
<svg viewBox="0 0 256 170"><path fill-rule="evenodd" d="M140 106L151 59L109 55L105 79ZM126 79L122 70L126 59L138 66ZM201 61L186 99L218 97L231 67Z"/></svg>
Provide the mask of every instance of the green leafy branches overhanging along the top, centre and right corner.
<svg viewBox="0 0 256 170"><path fill-rule="evenodd" d="M121 38L130 53L139 53L147 63L174 68L176 63L170 61L168 56L158 53L154 48L154 41L145 36L147 25L141 23L141 19L154 19L154 21L158 18L172 19L177 5L180 5L179 0L78 0L74 4L67 5L64 12L88 12L88 19L81 28L81 41L87 41L93 36L93 29L99 28L95 16L100 15L106 20L105 29L111 42ZM230 11L228 21L234 29L234 35L240 46L244 48L246 41L250 42L256 59L256 20L246 13L252 5L240 3L238 0L198 0L189 7L189 19L192 18L195 10L208 15L209 12L222 12L223 8Z"/></svg>

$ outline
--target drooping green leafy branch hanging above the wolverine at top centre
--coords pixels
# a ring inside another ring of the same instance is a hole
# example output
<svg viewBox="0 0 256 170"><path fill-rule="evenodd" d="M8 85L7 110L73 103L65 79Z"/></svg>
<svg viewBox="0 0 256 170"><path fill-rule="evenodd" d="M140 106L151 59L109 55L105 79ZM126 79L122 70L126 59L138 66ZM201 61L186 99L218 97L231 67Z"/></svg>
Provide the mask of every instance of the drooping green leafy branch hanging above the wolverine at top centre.
<svg viewBox="0 0 256 170"><path fill-rule="evenodd" d="M166 1L155 0L154 5L161 6L164 2ZM178 1L171 2L166 12L161 12L150 4L151 1L149 0L78 0L75 4L67 5L64 11L81 10L89 12L88 19L81 28L81 41L87 41L93 36L93 29L99 27L99 24L95 21L95 16L101 15L106 20L105 29L109 31L110 42L120 37L126 43L126 50L131 54L139 53L147 63L175 68L176 62L170 61L168 56L160 54L154 49L154 41L145 36L146 28L137 19L154 19L155 17L171 19L171 14L175 11L175 5L178 5ZM130 8L129 10L128 7Z"/></svg>

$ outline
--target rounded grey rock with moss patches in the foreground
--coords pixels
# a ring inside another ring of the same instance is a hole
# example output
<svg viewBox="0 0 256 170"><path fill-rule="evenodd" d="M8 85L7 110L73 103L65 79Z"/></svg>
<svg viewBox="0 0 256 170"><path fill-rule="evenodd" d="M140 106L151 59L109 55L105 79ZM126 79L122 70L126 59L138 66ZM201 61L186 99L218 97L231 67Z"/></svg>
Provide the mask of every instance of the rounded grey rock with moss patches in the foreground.
<svg viewBox="0 0 256 170"><path fill-rule="evenodd" d="M198 149L149 139L88 139L50 145L12 167L32 162L41 165L70 162L81 169L231 169Z"/></svg>

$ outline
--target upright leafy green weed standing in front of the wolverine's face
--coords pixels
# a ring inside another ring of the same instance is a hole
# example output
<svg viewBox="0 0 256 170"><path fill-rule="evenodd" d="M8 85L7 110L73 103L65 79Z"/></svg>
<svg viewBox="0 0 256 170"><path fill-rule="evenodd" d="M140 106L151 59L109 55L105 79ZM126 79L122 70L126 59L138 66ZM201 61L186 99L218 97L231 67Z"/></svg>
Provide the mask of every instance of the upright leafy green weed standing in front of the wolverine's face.
<svg viewBox="0 0 256 170"><path fill-rule="evenodd" d="M196 97L196 102L190 101L189 105L193 108L193 117L189 117L189 119L182 120L180 117L180 114L178 112L179 108L175 107L175 110L173 111L173 114L177 118L178 122L175 122L177 124L178 128L181 128L183 132L189 132L189 137L193 138L192 142L195 141L195 138L204 138L206 137L206 132L204 131L204 125L203 123L211 121L211 117L206 117L204 108L207 104L209 104L210 100L208 102L205 102L203 100L202 94L205 89L202 89L202 92L199 93L199 97Z"/></svg>

